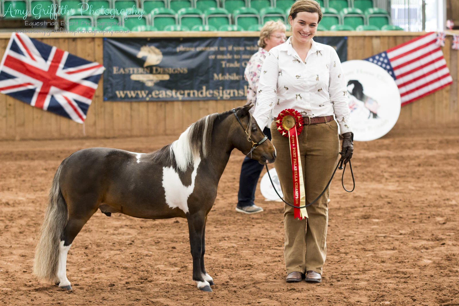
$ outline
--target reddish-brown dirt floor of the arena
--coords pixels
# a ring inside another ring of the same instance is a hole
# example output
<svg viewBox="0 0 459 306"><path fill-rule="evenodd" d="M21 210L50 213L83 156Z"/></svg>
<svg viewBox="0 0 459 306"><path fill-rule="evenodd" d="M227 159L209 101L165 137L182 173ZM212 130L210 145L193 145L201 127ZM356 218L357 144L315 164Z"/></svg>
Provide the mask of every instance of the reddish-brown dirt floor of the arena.
<svg viewBox="0 0 459 306"><path fill-rule="evenodd" d="M213 293L199 291L185 219L97 212L73 242L73 291L32 274L51 179L76 150L150 152L176 137L0 142L2 305L459 305L458 128L392 131L356 142L353 193L330 192L323 282L286 284L283 205L235 211L243 155L220 180L206 232ZM264 173L264 171L263 171ZM349 177L345 177L350 187Z"/></svg>

